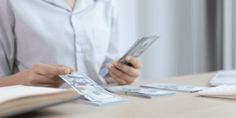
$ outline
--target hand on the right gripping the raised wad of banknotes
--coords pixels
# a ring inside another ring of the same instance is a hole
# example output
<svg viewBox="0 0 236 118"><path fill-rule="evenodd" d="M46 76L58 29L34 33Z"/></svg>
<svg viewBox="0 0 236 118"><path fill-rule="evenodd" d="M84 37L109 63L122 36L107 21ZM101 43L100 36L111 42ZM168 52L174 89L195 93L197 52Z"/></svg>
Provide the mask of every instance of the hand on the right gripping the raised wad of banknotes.
<svg viewBox="0 0 236 118"><path fill-rule="evenodd" d="M107 68L109 70L109 74L112 79L121 85L131 84L136 78L139 76L141 68L141 62L131 56L127 56L126 61L129 62L132 66L128 66L118 61L113 62L112 64L108 64Z"/></svg>

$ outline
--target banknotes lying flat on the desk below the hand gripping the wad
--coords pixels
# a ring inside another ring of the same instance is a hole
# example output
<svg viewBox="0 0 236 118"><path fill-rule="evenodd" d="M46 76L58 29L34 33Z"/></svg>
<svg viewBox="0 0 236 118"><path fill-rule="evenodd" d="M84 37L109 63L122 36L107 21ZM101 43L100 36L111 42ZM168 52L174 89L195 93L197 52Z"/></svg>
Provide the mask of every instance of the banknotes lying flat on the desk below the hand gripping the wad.
<svg viewBox="0 0 236 118"><path fill-rule="evenodd" d="M109 87L105 87L105 89L107 89L108 91L112 93L138 96L138 97L144 97L144 98L175 95L175 92L157 90L157 89L152 89L152 88L141 88L141 87L136 87L136 86L131 86L131 85L109 86Z"/></svg>

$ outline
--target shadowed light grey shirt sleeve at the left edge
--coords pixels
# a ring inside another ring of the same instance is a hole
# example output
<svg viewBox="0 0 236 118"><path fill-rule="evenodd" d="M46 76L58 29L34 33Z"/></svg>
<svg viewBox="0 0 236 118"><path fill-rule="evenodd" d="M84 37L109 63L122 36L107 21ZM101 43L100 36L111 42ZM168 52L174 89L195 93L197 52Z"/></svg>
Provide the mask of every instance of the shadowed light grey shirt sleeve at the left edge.
<svg viewBox="0 0 236 118"><path fill-rule="evenodd" d="M9 1L0 1L0 77L11 75L14 71L14 15Z"/></svg>

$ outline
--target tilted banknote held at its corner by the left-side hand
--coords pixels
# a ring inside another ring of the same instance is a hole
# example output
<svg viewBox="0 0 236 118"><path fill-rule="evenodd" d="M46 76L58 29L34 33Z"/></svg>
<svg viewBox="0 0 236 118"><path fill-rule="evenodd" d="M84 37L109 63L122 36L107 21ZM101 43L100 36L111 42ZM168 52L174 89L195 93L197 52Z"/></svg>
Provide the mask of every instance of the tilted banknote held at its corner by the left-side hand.
<svg viewBox="0 0 236 118"><path fill-rule="evenodd" d="M81 98L88 100L92 104L101 106L126 101L126 99L106 91L85 74L75 72L68 75L60 75L60 77L77 91Z"/></svg>

